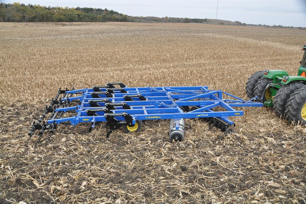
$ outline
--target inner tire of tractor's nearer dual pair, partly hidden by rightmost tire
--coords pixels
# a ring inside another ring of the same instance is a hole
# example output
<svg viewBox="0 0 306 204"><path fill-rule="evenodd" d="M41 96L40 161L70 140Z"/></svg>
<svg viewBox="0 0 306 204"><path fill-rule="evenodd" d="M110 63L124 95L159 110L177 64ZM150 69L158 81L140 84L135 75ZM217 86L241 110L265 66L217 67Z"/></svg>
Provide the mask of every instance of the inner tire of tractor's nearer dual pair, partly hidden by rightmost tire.
<svg viewBox="0 0 306 204"><path fill-rule="evenodd" d="M278 115L284 116L287 101L290 98L290 95L296 89L299 89L302 86L303 83L301 82L291 82L279 88L273 100L273 108Z"/></svg>

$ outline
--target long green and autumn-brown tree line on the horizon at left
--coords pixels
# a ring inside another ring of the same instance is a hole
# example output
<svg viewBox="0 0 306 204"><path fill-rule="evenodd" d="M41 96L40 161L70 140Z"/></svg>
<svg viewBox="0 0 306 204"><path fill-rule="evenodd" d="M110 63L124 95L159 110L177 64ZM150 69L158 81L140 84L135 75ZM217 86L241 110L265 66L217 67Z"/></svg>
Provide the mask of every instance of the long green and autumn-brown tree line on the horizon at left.
<svg viewBox="0 0 306 204"><path fill-rule="evenodd" d="M207 19L128 16L108 9L45 7L32 4L0 4L0 22L184 22L204 23Z"/></svg>

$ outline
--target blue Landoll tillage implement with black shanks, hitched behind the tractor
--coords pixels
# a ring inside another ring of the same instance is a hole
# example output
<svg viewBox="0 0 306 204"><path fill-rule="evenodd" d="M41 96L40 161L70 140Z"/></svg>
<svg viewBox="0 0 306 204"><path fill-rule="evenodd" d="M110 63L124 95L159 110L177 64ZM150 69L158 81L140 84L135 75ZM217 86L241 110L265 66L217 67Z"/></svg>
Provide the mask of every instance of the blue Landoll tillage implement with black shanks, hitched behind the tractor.
<svg viewBox="0 0 306 204"><path fill-rule="evenodd" d="M222 132L231 132L235 131L235 124L228 117L243 115L235 107L263 106L253 99L245 101L221 90L209 90L207 86L130 88L117 82L78 90L60 89L43 115L33 123L26 144L36 130L40 132L35 145L46 130L50 132L48 142L58 124L75 126L81 122L91 124L89 131L107 122L110 127L107 137L121 126L125 132L138 132L143 120L157 119L171 119L171 141L184 138L184 118L203 118Z"/></svg>

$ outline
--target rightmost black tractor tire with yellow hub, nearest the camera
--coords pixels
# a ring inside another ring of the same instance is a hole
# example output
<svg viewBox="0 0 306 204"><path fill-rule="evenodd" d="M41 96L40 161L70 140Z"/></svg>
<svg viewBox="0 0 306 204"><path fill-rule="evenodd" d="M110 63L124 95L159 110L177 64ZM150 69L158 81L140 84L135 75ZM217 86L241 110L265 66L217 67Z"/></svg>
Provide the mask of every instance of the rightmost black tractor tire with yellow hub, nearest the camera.
<svg viewBox="0 0 306 204"><path fill-rule="evenodd" d="M306 124L306 86L294 91L286 105L285 115L294 124Z"/></svg>

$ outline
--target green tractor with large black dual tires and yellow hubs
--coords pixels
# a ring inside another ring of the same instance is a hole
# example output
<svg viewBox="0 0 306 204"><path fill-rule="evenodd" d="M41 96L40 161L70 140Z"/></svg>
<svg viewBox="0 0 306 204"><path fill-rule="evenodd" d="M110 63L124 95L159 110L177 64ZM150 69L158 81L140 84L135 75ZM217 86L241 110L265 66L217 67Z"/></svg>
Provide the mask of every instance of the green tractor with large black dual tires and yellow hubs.
<svg viewBox="0 0 306 204"><path fill-rule="evenodd" d="M306 124L306 45L297 76L284 70L257 71L246 82L246 93L294 124Z"/></svg>

